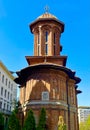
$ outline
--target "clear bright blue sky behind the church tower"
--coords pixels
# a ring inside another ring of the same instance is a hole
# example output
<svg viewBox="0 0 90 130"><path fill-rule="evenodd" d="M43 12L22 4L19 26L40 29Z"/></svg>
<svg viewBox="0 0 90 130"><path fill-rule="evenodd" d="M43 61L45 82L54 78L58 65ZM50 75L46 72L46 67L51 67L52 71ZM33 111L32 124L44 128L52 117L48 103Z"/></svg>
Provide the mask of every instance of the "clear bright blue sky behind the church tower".
<svg viewBox="0 0 90 130"><path fill-rule="evenodd" d="M61 36L67 67L82 79L78 104L90 106L90 0L0 0L0 60L12 71L27 67L25 56L33 55L29 24L45 12L65 23Z"/></svg>

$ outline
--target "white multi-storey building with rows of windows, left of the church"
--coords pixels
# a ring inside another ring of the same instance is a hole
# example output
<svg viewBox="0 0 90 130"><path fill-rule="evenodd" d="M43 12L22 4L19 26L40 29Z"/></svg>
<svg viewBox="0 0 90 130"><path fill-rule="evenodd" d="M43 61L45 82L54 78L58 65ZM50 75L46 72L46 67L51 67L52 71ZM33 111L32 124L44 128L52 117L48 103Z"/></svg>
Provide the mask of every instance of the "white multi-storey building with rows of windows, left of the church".
<svg viewBox="0 0 90 130"><path fill-rule="evenodd" d="M14 82L14 76L0 61L0 112L3 113L5 122L14 109L12 104L14 100L17 100L17 85Z"/></svg>

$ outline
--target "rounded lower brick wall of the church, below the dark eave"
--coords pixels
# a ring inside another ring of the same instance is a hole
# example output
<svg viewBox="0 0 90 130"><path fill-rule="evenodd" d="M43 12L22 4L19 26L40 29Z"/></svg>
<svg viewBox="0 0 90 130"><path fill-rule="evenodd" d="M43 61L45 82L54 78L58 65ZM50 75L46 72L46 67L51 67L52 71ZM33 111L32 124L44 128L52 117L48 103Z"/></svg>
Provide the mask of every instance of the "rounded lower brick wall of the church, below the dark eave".
<svg viewBox="0 0 90 130"><path fill-rule="evenodd" d="M49 130L57 130L58 118L63 116L64 122L68 129L68 120L70 120L71 130L77 130L77 111L76 111L76 95L75 95L75 85L74 80L68 80L68 92L66 81L69 77L62 71L41 69L33 72L30 77L28 77L26 87L22 87L20 90L21 98L20 102L35 102L35 104L27 104L26 109L32 108L35 114L36 123L39 120L39 113L42 107L46 108L47 111L47 126ZM49 92L48 103L42 101L42 92ZM25 97L23 97L25 96ZM68 106L67 98L69 99L69 105L73 108L70 110L70 117L68 117ZM25 99L25 101L24 101ZM40 104L43 102L42 104ZM51 102L51 103L50 103ZM53 102L53 104L52 104ZM59 102L61 104L59 104ZM56 103L56 104L54 104ZM23 108L23 111L26 111ZM68 119L70 118L70 119Z"/></svg>

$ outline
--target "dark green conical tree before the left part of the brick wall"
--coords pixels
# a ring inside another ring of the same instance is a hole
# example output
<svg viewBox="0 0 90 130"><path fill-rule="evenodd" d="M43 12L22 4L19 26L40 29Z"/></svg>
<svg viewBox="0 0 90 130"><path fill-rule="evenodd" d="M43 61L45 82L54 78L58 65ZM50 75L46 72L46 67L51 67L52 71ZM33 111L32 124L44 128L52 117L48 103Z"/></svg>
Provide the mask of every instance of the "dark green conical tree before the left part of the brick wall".
<svg viewBox="0 0 90 130"><path fill-rule="evenodd" d="M36 130L35 118L31 109L25 119L23 130Z"/></svg>

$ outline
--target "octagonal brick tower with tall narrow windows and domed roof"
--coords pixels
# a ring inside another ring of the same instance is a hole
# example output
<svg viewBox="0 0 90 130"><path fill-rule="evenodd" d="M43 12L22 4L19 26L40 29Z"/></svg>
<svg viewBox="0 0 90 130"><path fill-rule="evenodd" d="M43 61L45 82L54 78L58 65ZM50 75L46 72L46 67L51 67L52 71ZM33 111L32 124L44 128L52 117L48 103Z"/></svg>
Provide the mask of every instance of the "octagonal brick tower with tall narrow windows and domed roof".
<svg viewBox="0 0 90 130"><path fill-rule="evenodd" d="M62 50L60 36L64 23L55 16L45 13L30 25L34 34L34 56L58 56Z"/></svg>

